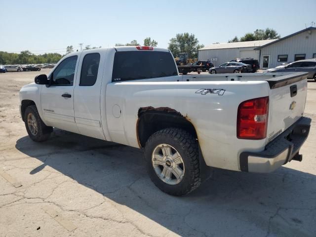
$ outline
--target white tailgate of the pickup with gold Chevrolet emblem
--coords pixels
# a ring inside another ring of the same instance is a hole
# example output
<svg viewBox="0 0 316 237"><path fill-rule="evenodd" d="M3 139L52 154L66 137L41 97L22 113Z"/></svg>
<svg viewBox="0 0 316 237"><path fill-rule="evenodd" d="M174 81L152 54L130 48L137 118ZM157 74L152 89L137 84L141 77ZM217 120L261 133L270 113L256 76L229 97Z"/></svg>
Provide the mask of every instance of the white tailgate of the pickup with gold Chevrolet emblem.
<svg viewBox="0 0 316 237"><path fill-rule="evenodd" d="M267 143L303 116L307 75L294 73L267 79L270 85Z"/></svg>

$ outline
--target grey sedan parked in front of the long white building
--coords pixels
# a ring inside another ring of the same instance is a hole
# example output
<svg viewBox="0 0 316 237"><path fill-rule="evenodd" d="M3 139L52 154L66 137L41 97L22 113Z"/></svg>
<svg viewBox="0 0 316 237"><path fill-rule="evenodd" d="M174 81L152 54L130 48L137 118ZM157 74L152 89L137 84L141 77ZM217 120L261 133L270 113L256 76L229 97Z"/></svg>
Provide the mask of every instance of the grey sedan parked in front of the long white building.
<svg viewBox="0 0 316 237"><path fill-rule="evenodd" d="M208 70L209 74L217 73L251 73L252 67L249 64L238 62L223 63L219 67L213 67Z"/></svg>

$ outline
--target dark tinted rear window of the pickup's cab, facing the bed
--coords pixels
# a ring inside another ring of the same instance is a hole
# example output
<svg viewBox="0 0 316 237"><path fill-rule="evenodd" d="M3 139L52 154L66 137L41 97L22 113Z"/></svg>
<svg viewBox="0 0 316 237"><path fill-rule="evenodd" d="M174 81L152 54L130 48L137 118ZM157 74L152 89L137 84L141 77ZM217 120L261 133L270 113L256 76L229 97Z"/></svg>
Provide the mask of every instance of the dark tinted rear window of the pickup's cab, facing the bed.
<svg viewBox="0 0 316 237"><path fill-rule="evenodd" d="M163 51L118 51L112 82L178 76L174 58Z"/></svg>

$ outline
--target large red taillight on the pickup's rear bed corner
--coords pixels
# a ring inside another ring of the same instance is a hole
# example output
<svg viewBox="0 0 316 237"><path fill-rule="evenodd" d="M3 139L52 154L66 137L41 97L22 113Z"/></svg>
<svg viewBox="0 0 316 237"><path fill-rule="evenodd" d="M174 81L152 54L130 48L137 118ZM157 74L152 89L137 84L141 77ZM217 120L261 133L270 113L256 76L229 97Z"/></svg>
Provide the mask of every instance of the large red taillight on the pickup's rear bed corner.
<svg viewBox="0 0 316 237"><path fill-rule="evenodd" d="M264 139L267 137L269 96L241 102L237 112L237 138Z"/></svg>

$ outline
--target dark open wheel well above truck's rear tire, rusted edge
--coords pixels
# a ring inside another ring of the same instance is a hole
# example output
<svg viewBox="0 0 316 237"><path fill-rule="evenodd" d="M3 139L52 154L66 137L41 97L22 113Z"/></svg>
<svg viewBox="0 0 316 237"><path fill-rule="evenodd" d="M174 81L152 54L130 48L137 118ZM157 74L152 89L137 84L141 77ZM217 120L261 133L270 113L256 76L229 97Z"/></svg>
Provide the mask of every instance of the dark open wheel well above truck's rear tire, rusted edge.
<svg viewBox="0 0 316 237"><path fill-rule="evenodd" d="M187 116L184 117L179 112L167 107L140 108L136 128L140 147L145 147L147 140L152 134L168 127L182 128L197 138L196 130Z"/></svg>

